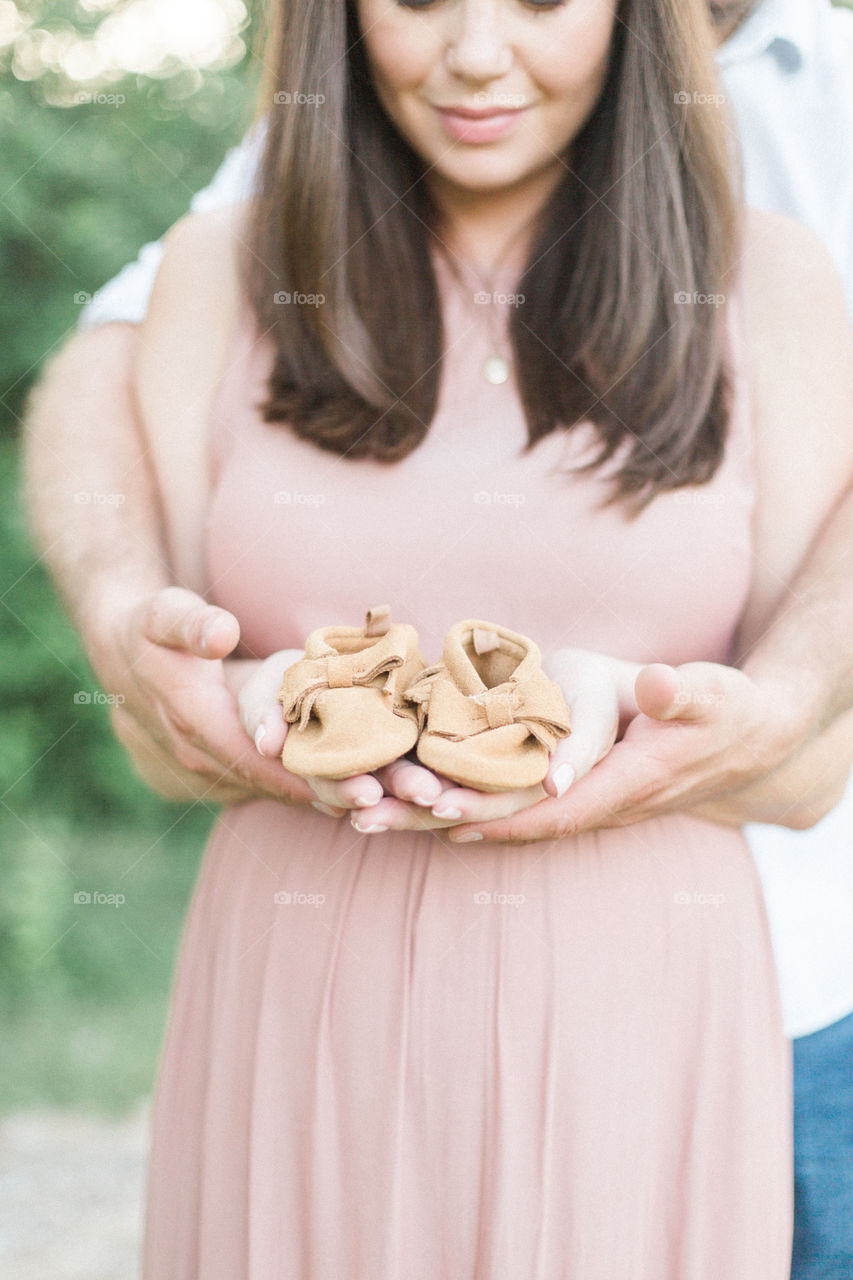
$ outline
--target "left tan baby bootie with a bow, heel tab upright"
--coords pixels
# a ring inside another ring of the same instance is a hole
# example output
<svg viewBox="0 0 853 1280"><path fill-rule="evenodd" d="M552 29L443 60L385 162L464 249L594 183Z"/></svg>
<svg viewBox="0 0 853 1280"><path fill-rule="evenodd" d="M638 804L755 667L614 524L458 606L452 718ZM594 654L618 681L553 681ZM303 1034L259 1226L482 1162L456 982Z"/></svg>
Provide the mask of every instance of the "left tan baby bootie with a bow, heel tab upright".
<svg viewBox="0 0 853 1280"><path fill-rule="evenodd" d="M368 611L364 627L313 631L278 691L284 719L296 726L284 739L284 768L302 778L350 778L405 755L418 740L418 713L402 694L425 666L418 632L392 625L386 604Z"/></svg>

